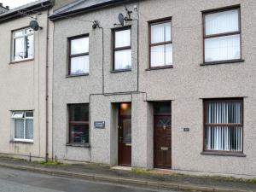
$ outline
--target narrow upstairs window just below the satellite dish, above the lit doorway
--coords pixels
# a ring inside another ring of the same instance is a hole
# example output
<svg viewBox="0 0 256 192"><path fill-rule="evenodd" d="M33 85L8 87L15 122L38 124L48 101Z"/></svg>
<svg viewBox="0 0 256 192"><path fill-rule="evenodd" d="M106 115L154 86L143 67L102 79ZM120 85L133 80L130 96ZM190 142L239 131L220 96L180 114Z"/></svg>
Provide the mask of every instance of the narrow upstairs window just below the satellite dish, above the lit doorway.
<svg viewBox="0 0 256 192"><path fill-rule="evenodd" d="M113 30L113 70L131 69L131 28Z"/></svg>

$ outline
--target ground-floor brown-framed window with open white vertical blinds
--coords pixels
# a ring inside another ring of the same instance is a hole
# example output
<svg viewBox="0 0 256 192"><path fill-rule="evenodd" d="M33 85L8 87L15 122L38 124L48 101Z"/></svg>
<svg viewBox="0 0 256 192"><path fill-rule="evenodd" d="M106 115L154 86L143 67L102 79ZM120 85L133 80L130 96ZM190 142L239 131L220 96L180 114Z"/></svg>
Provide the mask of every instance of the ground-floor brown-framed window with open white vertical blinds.
<svg viewBox="0 0 256 192"><path fill-rule="evenodd" d="M242 99L204 101L205 151L242 152Z"/></svg>

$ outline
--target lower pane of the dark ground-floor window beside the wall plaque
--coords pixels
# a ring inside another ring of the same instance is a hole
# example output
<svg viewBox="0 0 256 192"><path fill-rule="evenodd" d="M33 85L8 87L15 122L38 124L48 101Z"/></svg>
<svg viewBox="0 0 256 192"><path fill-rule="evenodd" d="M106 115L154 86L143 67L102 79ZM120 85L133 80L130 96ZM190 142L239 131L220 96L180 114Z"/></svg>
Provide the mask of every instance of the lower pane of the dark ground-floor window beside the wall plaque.
<svg viewBox="0 0 256 192"><path fill-rule="evenodd" d="M89 143L89 125L71 125L70 143Z"/></svg>

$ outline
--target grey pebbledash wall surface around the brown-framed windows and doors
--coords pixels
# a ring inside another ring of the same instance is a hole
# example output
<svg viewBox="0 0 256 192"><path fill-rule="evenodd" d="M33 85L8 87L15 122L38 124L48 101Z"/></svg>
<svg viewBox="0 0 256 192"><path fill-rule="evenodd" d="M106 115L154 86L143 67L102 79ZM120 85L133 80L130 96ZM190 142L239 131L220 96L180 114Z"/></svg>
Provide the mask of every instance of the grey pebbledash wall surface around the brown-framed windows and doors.
<svg viewBox="0 0 256 192"><path fill-rule="evenodd" d="M202 13L241 6L241 63L201 66ZM253 0L145 0L129 3L139 9L139 90L137 91L137 21L131 23L131 72L111 73L111 29L123 6L95 10L55 21L53 138L59 160L117 165L116 102L132 102L132 166L153 168L153 107L172 101L172 169L256 176L256 2ZM137 18L137 14L132 14ZM148 21L172 17L173 68L146 71ZM74 20L76 19L76 20ZM99 20L104 31L104 92L102 95L102 29L81 20ZM67 78L67 38L90 34L90 75ZM133 93L121 93L134 91ZM117 94L116 92L119 92ZM92 94L92 95L91 95ZM96 94L96 95L94 95ZM244 98L246 157L203 155L203 98ZM90 148L67 144L67 104L90 102ZM106 129L94 129L106 121ZM189 132L183 128L189 127Z"/></svg>

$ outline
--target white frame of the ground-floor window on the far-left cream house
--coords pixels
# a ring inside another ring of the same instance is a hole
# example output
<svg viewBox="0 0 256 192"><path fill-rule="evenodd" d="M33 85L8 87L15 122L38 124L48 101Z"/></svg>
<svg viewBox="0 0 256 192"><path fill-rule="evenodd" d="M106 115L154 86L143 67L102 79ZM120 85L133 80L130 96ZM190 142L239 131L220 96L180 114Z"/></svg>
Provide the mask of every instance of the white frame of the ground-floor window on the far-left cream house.
<svg viewBox="0 0 256 192"><path fill-rule="evenodd" d="M17 115L17 113L20 113L20 115ZM26 139L26 119L34 119L34 117L26 117L26 113L33 113L34 116L34 112L33 111L13 111L12 112L12 120L13 120L13 140L15 142L26 142L26 143L32 143L34 140L33 139ZM22 115L22 117L21 117ZM20 139L20 138L15 138L15 119L23 119L24 120L24 138ZM34 121L33 121L34 123ZM34 125L33 125L33 132L34 132Z"/></svg>

